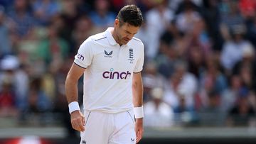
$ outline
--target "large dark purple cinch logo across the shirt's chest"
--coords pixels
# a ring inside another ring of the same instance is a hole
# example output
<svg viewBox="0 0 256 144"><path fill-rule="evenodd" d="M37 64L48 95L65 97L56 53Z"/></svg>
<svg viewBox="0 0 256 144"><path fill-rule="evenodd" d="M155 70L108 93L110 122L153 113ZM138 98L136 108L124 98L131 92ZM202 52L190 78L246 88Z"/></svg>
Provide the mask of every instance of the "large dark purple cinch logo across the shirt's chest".
<svg viewBox="0 0 256 144"><path fill-rule="evenodd" d="M111 68L110 71L102 73L102 77L105 79L129 79L131 72L114 72L114 69Z"/></svg>

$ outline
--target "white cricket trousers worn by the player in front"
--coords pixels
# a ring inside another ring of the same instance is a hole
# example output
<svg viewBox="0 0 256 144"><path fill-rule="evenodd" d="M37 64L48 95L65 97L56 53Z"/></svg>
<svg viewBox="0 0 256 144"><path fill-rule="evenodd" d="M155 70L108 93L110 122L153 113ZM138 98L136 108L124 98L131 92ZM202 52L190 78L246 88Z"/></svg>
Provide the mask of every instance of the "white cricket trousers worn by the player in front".
<svg viewBox="0 0 256 144"><path fill-rule="evenodd" d="M85 131L80 144L135 144L134 112L85 111Z"/></svg>

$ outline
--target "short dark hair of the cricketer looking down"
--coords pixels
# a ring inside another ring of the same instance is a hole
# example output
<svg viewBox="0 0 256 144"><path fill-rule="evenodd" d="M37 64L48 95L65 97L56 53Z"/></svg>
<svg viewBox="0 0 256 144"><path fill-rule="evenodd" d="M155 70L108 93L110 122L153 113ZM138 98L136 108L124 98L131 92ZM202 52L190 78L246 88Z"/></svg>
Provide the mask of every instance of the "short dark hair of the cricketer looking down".
<svg viewBox="0 0 256 144"><path fill-rule="evenodd" d="M119 11L117 19L120 22L120 26L123 23L129 23L132 26L142 26L143 23L142 11L134 4L124 6Z"/></svg>

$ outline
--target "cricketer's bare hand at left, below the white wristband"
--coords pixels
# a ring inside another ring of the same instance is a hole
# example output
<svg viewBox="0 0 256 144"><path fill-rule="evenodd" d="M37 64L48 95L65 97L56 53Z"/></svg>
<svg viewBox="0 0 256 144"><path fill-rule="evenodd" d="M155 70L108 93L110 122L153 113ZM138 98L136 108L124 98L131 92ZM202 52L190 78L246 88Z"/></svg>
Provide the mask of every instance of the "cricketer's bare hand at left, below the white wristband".
<svg viewBox="0 0 256 144"><path fill-rule="evenodd" d="M73 111L70 114L72 127L76 131L85 131L85 116L81 113L81 111Z"/></svg>

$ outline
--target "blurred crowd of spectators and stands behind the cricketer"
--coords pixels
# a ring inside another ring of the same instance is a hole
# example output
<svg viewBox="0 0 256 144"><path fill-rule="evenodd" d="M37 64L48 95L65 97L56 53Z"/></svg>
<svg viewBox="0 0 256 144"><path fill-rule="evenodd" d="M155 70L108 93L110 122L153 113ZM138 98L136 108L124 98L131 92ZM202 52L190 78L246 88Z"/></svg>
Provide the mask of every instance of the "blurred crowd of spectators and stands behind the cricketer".
<svg viewBox="0 0 256 144"><path fill-rule="evenodd" d="M79 143L66 74L126 4L145 20L140 143L255 143L255 0L0 0L0 143Z"/></svg>

